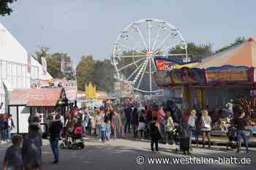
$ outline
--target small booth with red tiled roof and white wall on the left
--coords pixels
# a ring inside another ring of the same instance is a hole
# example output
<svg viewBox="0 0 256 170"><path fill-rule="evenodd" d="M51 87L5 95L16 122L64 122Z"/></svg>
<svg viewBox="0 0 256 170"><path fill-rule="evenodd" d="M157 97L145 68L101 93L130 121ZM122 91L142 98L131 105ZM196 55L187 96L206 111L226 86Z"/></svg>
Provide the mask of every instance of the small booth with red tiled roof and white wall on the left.
<svg viewBox="0 0 256 170"><path fill-rule="evenodd" d="M12 90L9 113L12 115L15 128L12 133L29 132L29 116L38 114L41 120L42 133L47 130L48 116L67 105L64 88L32 88Z"/></svg>

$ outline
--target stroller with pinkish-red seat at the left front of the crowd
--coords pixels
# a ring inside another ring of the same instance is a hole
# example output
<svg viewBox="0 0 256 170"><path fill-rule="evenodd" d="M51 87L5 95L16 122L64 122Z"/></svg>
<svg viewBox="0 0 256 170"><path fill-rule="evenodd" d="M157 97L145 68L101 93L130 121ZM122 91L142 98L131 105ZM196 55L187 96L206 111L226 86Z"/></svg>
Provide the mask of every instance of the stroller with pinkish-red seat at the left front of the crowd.
<svg viewBox="0 0 256 170"><path fill-rule="evenodd" d="M67 131L65 138L62 139L62 142L60 144L61 149L83 149L84 143L82 134L83 126L80 123L78 123L77 125L75 125L75 128L72 130L71 133Z"/></svg>

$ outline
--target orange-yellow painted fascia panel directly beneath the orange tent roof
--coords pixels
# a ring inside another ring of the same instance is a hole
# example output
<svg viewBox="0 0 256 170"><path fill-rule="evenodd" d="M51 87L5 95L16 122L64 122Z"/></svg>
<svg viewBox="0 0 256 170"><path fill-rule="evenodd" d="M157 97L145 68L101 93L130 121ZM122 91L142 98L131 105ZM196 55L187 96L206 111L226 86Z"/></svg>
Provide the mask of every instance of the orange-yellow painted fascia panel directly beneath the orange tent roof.
<svg viewBox="0 0 256 170"><path fill-rule="evenodd" d="M219 82L254 82L254 68L247 66L210 67L206 69L209 84Z"/></svg>

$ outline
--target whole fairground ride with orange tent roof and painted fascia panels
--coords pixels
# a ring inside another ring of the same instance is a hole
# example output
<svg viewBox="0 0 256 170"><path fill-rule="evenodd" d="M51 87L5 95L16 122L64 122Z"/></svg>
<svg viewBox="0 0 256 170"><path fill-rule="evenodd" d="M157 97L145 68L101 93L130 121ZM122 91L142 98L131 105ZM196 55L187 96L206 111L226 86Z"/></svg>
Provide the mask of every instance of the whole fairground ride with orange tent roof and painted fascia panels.
<svg viewBox="0 0 256 170"><path fill-rule="evenodd" d="M251 117L249 125L255 125L252 114L256 105L252 100L256 89L255 67L256 44L250 38L191 67L158 70L154 79L162 88L180 88L189 108L207 106L210 114L217 117L229 117L233 107L240 105Z"/></svg>

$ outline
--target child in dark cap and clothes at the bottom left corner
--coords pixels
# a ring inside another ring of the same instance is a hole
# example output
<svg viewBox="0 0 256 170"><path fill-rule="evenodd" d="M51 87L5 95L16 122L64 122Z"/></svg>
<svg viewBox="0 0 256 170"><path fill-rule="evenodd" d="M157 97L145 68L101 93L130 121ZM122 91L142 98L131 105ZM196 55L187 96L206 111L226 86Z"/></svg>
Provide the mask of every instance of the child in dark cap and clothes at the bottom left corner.
<svg viewBox="0 0 256 170"><path fill-rule="evenodd" d="M21 157L22 136L16 134L12 136L12 146L8 147L4 155L3 170L14 169L23 170L23 162Z"/></svg>

